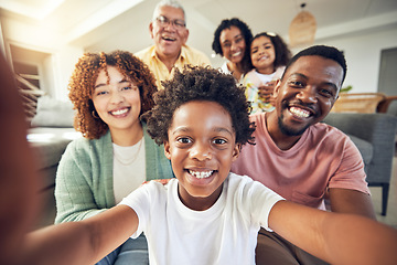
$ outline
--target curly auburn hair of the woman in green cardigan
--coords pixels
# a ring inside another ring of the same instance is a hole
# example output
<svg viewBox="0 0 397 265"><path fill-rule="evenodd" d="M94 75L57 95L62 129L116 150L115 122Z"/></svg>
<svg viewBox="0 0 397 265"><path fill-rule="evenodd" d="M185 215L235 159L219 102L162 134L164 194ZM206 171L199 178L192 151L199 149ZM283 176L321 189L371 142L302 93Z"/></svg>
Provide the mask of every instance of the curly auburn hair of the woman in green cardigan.
<svg viewBox="0 0 397 265"><path fill-rule="evenodd" d="M96 110L92 100L98 74L101 70L105 70L106 75L108 75L107 66L117 67L125 77L128 77L139 87L141 102L139 117L154 105L153 94L158 91L154 77L149 67L138 57L133 56L132 53L125 51L85 53L78 60L72 74L68 84L68 96L74 105L74 109L77 110L74 127L88 139L98 139L109 129L104 120L93 116L95 115L93 112Z"/></svg>

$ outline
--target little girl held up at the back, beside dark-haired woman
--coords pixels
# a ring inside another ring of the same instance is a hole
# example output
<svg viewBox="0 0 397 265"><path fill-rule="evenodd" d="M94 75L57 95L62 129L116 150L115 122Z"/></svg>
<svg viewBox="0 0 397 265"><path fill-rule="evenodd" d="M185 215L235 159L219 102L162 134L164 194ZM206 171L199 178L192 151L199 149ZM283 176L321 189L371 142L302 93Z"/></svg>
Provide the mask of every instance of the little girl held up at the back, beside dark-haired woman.
<svg viewBox="0 0 397 265"><path fill-rule="evenodd" d="M283 40L271 32L262 32L250 42L250 62L254 68L244 77L246 96L251 102L251 114L271 112L271 95L291 59L291 52Z"/></svg>

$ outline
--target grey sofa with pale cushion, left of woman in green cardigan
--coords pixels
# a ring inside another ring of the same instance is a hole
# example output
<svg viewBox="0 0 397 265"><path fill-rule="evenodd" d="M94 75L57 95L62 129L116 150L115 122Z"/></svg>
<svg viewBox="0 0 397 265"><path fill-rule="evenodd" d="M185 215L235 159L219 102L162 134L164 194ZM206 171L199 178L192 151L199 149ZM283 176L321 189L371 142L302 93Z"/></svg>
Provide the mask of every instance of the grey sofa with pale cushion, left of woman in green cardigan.
<svg viewBox="0 0 397 265"><path fill-rule="evenodd" d="M54 187L58 162L66 146L82 134L73 128L74 110L69 102L43 96L37 100L36 115L28 130L28 141L40 172L39 195L42 200L36 227L50 225L55 219Z"/></svg>

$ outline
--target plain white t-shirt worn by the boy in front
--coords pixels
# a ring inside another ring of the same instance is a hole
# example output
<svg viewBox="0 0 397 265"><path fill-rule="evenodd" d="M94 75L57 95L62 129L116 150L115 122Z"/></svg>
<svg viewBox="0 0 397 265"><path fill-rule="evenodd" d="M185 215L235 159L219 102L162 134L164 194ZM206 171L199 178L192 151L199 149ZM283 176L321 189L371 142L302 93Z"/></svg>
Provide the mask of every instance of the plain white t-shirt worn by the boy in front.
<svg viewBox="0 0 397 265"><path fill-rule="evenodd" d="M144 232L150 264L255 264L259 227L280 195L246 176L229 173L222 194L205 211L186 208L178 195L178 180L151 181L125 198Z"/></svg>

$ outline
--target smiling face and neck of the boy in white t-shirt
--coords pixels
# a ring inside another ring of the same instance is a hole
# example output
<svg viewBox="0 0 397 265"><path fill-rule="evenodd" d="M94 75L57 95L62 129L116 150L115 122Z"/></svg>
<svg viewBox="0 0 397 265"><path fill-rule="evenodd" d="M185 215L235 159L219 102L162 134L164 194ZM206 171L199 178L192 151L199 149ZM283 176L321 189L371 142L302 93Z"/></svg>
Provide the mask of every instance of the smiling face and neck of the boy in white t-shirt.
<svg viewBox="0 0 397 265"><path fill-rule="evenodd" d="M230 115L214 102L185 103L174 112L168 137L164 151L182 202L197 211L211 208L239 153Z"/></svg>

